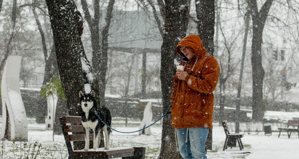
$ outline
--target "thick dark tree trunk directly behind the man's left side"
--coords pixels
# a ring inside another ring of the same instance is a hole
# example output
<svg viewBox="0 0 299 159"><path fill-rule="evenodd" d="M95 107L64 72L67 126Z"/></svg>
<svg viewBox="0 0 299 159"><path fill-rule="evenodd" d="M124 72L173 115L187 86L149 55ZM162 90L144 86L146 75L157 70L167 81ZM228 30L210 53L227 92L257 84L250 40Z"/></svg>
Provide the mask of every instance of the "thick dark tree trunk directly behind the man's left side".
<svg viewBox="0 0 299 159"><path fill-rule="evenodd" d="M175 46L185 37L188 26L189 4L187 0L164 0L163 7L164 36L161 46L161 90L163 113L169 107L170 94L175 73ZM158 159L180 159L176 150L174 129L171 127L171 116L165 116L162 124L162 143Z"/></svg>

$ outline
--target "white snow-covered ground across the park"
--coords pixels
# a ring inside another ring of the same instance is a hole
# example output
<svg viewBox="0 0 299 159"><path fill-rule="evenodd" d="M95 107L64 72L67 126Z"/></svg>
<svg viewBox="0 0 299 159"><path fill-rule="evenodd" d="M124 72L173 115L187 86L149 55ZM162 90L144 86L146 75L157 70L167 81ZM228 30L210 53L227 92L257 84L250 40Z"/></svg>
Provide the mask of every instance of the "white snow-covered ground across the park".
<svg viewBox="0 0 299 159"><path fill-rule="evenodd" d="M279 118L284 121L293 117L299 117L299 112L266 112L266 118ZM10 142L2 141L0 143L1 159L14 159L28 156L31 159L35 142L41 145L40 155L36 159L67 159L68 154L62 135L55 135L54 141L52 131L46 130L44 124L37 124L34 119L28 119L28 142ZM114 120L114 119L113 119ZM115 122L116 123L116 122ZM118 131L136 131L136 126L125 127L122 124L114 124L112 127ZM267 124L269 125L269 124ZM272 130L277 131L277 127L283 124L270 124ZM234 130L234 123L229 123L230 129ZM271 136L265 136L261 130L261 124L241 123L241 133L244 134L242 142L244 150L239 148L228 148L223 151L225 134L222 126L218 123L213 125L213 150L208 150L209 159L298 159L299 136L292 134L289 139L287 133L281 134L278 138L278 132L273 132ZM161 125L155 124L151 127L151 136L139 135L139 133L122 134L113 132L111 135L112 147L146 147L147 159L157 159L161 145ZM22 150L21 150L22 149ZM36 153L33 153L34 159Z"/></svg>

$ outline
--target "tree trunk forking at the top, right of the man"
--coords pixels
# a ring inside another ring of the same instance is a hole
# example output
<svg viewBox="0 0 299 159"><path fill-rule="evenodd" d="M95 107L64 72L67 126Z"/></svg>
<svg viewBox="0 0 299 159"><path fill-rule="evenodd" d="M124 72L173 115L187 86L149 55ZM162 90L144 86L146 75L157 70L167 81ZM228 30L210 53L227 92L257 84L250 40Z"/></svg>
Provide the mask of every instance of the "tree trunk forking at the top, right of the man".
<svg viewBox="0 0 299 159"><path fill-rule="evenodd" d="M263 121L264 101L263 101L263 80L265 71L262 65L262 42L263 30L273 0L266 0L258 11L257 0L249 0L251 17L253 23L252 36L252 119Z"/></svg>

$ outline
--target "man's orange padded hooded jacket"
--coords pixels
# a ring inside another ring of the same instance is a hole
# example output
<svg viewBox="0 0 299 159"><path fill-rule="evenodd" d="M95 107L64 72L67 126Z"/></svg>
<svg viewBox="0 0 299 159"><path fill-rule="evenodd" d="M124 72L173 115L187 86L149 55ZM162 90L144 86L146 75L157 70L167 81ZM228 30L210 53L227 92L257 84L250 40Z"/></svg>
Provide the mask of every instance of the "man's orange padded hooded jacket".
<svg viewBox="0 0 299 159"><path fill-rule="evenodd" d="M189 35L183 38L175 50L183 56L179 47L191 47L192 59L186 62L185 80L174 76L171 92L171 126L177 129L208 127L212 128L214 95L219 77L219 65L216 59L206 53L199 36ZM182 62L180 63L182 65Z"/></svg>

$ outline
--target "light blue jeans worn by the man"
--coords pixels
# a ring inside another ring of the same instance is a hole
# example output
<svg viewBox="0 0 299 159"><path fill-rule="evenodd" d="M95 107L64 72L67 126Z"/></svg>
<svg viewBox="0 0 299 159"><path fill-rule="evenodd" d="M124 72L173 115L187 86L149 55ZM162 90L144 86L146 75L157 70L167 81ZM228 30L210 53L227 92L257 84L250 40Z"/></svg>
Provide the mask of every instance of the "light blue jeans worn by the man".
<svg viewBox="0 0 299 159"><path fill-rule="evenodd" d="M184 159L207 159L205 142L209 128L176 129L179 153Z"/></svg>

